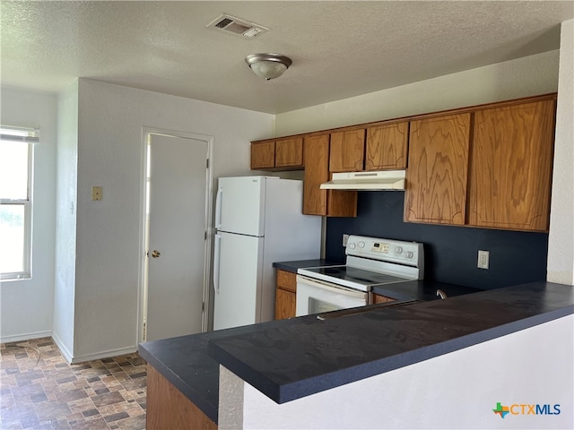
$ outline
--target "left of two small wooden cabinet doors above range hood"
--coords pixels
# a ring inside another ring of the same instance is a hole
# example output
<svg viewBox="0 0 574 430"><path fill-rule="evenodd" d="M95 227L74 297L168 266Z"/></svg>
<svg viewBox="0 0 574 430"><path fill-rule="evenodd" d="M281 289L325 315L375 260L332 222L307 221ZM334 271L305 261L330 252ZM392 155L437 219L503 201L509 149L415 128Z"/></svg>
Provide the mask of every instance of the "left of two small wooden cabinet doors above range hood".
<svg viewBox="0 0 574 430"><path fill-rule="evenodd" d="M360 172L363 170L365 130L331 133L330 172Z"/></svg>

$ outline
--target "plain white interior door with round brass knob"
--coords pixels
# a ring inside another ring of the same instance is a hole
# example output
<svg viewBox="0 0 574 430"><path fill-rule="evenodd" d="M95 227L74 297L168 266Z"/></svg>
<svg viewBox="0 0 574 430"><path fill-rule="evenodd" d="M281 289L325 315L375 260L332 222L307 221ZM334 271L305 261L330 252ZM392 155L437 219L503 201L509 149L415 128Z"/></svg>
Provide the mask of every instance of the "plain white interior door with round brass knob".
<svg viewBox="0 0 574 430"><path fill-rule="evenodd" d="M148 143L147 341L204 327L211 202L209 142L150 133Z"/></svg>

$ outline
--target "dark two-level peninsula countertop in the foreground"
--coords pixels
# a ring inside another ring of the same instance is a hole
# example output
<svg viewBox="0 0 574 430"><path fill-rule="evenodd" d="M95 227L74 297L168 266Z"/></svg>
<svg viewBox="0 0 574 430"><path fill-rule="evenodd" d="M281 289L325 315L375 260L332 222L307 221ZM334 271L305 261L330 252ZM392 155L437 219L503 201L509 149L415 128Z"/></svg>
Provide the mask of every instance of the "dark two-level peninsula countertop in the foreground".
<svg viewBox="0 0 574 430"><path fill-rule="evenodd" d="M574 288L536 282L374 306L325 321L308 315L155 340L139 352L217 423L220 363L283 403L572 314Z"/></svg>

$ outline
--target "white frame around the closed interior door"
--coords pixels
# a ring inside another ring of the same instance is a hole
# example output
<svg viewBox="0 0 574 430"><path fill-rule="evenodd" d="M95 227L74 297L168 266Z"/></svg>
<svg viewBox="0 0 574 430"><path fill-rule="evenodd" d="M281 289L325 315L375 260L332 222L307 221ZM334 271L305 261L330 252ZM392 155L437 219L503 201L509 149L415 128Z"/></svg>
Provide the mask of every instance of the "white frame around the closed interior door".
<svg viewBox="0 0 574 430"><path fill-rule="evenodd" d="M202 331L208 330L209 324L209 304L211 300L211 265L212 265L212 247L213 247L213 136L207 134L198 134L182 132L177 130L167 130L157 127L142 127L142 146L140 152L140 211L139 211L139 275L138 275L138 305L137 305L137 328L136 344L143 342L145 316L147 314L147 249L146 240L148 228L146 222L146 205L147 205L147 163L148 163L148 141L153 134L179 137L184 139L193 139L207 143L207 168L205 169L205 218L204 229L206 238L204 241L204 294L203 294L203 311L202 311Z"/></svg>

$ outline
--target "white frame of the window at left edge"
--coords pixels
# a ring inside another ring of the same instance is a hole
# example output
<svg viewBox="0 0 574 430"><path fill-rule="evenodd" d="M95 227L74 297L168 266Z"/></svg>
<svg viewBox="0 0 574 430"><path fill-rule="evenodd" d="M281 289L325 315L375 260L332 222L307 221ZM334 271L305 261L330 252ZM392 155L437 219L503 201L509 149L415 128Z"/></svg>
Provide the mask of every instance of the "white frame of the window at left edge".
<svg viewBox="0 0 574 430"><path fill-rule="evenodd" d="M1 139L1 141L8 141ZM32 278L32 188L34 169L34 143L22 142L28 146L28 185L25 199L2 199L1 205L22 205L24 208L24 246L22 250L22 271L0 272L0 281L31 280Z"/></svg>

